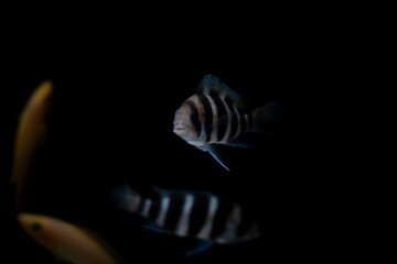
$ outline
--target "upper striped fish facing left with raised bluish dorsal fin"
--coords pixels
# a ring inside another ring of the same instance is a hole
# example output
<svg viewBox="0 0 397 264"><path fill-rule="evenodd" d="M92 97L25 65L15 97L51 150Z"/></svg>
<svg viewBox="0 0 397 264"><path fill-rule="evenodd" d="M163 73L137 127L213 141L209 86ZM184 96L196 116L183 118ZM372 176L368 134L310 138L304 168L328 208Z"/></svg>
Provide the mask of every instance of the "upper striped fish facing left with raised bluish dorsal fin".
<svg viewBox="0 0 397 264"><path fill-rule="evenodd" d="M279 105L270 102L250 110L247 99L221 79L207 75L195 95L176 110L173 132L204 152L208 152L227 170L214 144L247 147L245 132L277 134L275 124Z"/></svg>

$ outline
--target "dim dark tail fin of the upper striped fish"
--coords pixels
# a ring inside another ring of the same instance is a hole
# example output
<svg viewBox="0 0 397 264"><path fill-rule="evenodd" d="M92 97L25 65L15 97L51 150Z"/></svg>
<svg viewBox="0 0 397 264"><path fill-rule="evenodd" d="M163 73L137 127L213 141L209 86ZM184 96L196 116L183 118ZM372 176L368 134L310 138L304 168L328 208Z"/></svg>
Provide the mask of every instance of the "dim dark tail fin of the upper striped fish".
<svg viewBox="0 0 397 264"><path fill-rule="evenodd" d="M255 109L250 114L249 132L280 135L280 103L269 102Z"/></svg>

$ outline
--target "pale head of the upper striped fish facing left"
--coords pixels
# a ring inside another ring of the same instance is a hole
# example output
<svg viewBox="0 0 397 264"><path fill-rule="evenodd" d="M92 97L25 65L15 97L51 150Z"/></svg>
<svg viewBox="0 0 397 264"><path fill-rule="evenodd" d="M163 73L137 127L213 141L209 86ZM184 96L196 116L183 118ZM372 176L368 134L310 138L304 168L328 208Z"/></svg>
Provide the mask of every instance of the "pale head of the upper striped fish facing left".
<svg viewBox="0 0 397 264"><path fill-rule="evenodd" d="M175 112L173 132L185 141L195 141L198 138L197 112L189 103L183 103Z"/></svg>

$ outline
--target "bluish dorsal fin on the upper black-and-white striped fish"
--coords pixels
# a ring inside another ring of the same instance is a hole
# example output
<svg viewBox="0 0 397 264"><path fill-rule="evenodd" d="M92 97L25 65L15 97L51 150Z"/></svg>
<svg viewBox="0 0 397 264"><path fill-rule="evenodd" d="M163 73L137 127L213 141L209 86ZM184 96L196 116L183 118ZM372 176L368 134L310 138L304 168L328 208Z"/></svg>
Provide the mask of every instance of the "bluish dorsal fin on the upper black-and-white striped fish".
<svg viewBox="0 0 397 264"><path fill-rule="evenodd" d="M229 99L239 109L246 109L246 100L232 90L225 82L223 82L218 77L213 75L206 75L198 84L197 94L203 94L207 96L217 96L221 99Z"/></svg>

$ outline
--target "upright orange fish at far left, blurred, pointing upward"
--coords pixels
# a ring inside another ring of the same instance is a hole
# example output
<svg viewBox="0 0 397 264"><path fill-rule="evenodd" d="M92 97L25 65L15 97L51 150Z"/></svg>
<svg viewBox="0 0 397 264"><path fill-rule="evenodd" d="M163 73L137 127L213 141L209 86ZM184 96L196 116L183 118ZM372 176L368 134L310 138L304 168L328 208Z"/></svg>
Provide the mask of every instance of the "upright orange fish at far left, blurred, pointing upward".
<svg viewBox="0 0 397 264"><path fill-rule="evenodd" d="M45 134L45 118L52 92L52 81L42 82L30 97L19 120L10 180L15 185L15 209L18 211L22 210L22 196L33 157Z"/></svg>

